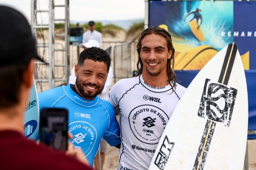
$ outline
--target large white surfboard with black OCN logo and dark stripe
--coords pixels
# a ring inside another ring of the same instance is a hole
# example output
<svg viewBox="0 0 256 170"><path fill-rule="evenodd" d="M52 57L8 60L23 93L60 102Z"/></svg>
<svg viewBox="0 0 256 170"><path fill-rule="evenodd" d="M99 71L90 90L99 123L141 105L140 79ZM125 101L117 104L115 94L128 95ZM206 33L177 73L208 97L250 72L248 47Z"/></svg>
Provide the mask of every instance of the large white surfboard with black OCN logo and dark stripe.
<svg viewBox="0 0 256 170"><path fill-rule="evenodd" d="M243 169L247 129L247 85L233 42L188 86L149 169Z"/></svg>

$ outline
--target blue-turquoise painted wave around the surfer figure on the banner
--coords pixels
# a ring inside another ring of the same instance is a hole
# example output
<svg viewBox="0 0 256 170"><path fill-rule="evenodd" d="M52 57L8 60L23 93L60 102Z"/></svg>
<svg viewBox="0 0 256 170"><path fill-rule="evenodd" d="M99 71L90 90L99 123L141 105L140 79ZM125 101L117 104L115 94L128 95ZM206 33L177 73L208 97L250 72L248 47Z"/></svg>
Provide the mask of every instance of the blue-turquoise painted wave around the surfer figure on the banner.
<svg viewBox="0 0 256 170"><path fill-rule="evenodd" d="M205 35L205 42L200 42L192 33L188 22L194 18L194 14L188 12L201 9L203 20L201 29ZM214 9L214 10L213 10ZM178 42L186 46L197 47L200 45L210 45L217 50L233 41L233 36L227 36L227 32L233 34L233 2L205 2L205 1L184 1L166 3L166 25L168 31L174 37L179 37L185 42ZM221 32L226 36L221 37Z"/></svg>

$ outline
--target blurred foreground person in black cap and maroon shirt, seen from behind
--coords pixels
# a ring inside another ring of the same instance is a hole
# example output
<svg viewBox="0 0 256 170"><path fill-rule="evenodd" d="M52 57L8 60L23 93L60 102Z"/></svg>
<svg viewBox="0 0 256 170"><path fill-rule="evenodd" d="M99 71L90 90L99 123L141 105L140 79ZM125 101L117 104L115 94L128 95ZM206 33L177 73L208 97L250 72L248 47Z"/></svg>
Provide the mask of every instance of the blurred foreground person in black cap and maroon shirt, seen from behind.
<svg viewBox="0 0 256 170"><path fill-rule="evenodd" d="M41 59L29 24L20 12L0 5L0 23L1 169L91 169L81 150L72 145L65 155L23 137L34 62ZM17 40L19 45L14 48Z"/></svg>

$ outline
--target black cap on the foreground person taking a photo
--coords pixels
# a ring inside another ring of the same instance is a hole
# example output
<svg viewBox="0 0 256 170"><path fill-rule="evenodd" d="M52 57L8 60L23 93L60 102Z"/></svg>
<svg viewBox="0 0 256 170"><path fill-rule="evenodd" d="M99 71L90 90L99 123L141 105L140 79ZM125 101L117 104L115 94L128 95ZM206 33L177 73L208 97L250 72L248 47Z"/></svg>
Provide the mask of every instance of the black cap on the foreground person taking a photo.
<svg viewBox="0 0 256 170"><path fill-rule="evenodd" d="M35 40L27 19L17 10L0 5L0 66L43 61L36 52Z"/></svg>

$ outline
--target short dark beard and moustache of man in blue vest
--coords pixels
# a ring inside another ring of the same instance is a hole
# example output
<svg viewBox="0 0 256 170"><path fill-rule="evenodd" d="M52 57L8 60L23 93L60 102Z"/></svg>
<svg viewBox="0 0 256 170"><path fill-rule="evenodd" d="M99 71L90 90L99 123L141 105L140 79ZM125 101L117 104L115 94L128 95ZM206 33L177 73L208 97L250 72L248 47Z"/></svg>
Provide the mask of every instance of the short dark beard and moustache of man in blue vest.
<svg viewBox="0 0 256 170"><path fill-rule="evenodd" d="M90 85L90 86L96 86L98 88L98 90L94 93L94 94L91 94L91 93L86 93L84 91L84 88L83 86L85 85ZM76 86L77 86L77 89L79 91L79 93L82 95L83 98L85 99L94 99L98 94L100 94L104 88L104 86L100 89L99 86L95 85L95 84L91 84L91 83L88 83L88 84L82 84L81 83L81 80L79 79L79 75L77 75L77 78L76 78Z"/></svg>

